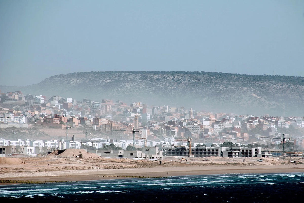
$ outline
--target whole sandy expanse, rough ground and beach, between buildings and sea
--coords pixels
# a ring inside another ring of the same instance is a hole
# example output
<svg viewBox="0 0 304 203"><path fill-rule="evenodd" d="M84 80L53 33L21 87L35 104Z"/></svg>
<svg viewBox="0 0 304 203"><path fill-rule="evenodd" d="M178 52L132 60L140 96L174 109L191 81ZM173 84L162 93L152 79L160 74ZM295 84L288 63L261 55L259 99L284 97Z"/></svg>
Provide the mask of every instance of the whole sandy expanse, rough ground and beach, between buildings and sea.
<svg viewBox="0 0 304 203"><path fill-rule="evenodd" d="M171 177L243 173L304 173L302 159L231 159L155 161L120 159L8 159L0 163L0 180L89 181L128 177ZM292 160L292 161L290 161ZM294 163L294 160L297 160Z"/></svg>

